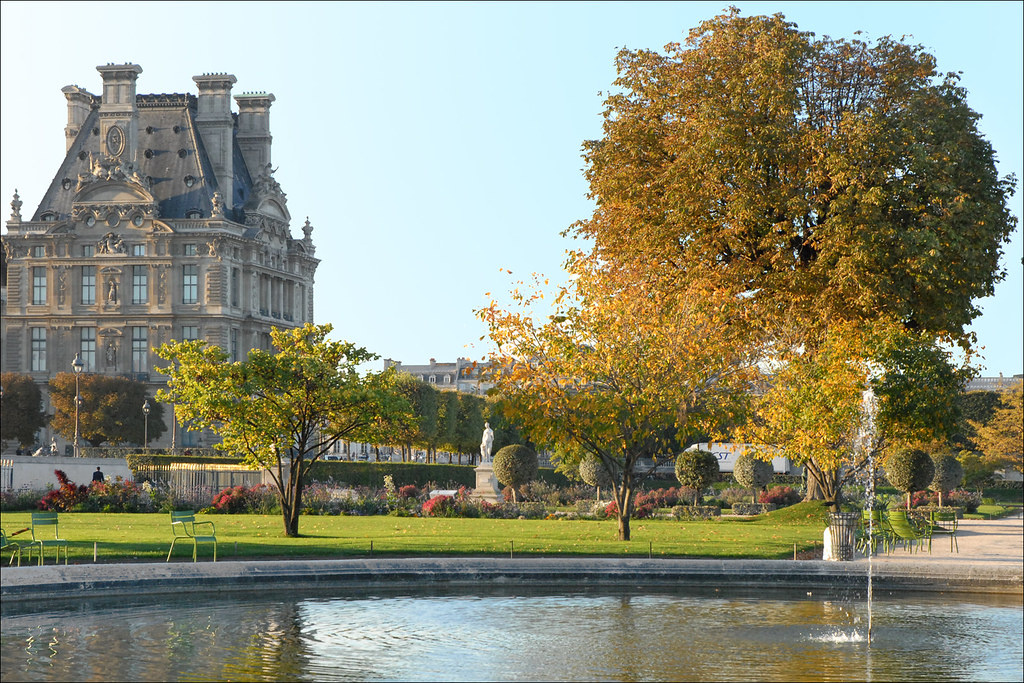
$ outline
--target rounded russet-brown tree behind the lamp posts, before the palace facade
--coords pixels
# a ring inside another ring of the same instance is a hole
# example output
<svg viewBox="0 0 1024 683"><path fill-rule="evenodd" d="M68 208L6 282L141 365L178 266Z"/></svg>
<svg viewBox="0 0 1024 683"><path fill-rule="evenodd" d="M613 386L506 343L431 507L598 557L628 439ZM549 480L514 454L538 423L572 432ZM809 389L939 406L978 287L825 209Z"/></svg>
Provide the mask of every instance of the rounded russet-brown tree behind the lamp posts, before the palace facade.
<svg viewBox="0 0 1024 683"><path fill-rule="evenodd" d="M93 446L109 442L142 444L167 431L164 405L148 393L148 387L124 377L83 374L79 376L82 404L79 408L79 434ZM65 438L75 438L75 375L57 373L50 379L50 426ZM142 412L150 402L148 428ZM146 434L148 432L148 434Z"/></svg>

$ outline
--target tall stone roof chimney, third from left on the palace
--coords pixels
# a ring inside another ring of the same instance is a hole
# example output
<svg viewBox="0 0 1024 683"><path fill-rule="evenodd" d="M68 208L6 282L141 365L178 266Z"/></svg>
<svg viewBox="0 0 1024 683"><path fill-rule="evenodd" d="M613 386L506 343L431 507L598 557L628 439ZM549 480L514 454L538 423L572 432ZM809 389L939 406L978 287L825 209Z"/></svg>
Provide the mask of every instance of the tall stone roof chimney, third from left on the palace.
<svg viewBox="0 0 1024 683"><path fill-rule="evenodd" d="M225 208L234 205L233 139L234 120L231 118L231 86L236 79L230 74L203 74L194 76L199 88L199 111L196 125L199 128L206 154L217 176L217 189Z"/></svg>

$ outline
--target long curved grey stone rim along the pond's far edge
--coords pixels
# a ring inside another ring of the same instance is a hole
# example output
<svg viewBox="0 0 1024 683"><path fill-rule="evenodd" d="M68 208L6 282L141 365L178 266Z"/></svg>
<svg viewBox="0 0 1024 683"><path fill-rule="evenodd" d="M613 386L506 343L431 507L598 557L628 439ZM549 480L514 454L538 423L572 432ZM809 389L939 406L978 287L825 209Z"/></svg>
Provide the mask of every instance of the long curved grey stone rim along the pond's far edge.
<svg viewBox="0 0 1024 683"><path fill-rule="evenodd" d="M67 600L253 589L366 591L545 587L650 591L863 590L864 562L552 557L434 557L338 560L146 562L4 567L0 598ZM888 561L873 567L876 592L1024 595L1024 565Z"/></svg>

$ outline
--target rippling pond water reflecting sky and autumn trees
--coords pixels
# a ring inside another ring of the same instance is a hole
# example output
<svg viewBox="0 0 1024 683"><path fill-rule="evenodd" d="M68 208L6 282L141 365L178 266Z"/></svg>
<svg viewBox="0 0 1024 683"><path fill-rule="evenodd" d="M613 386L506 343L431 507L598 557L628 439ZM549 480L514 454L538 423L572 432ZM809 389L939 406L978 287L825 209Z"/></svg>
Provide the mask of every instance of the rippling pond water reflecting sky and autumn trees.
<svg viewBox="0 0 1024 683"><path fill-rule="evenodd" d="M1022 680L1020 597L279 594L5 605L4 681Z"/></svg>

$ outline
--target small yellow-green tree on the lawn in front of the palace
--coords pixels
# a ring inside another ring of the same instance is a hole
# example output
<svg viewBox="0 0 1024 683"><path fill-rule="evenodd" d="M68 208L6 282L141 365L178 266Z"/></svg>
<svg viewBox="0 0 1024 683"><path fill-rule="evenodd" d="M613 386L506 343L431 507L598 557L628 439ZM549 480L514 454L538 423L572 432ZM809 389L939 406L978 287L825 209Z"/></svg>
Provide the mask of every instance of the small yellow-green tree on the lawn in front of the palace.
<svg viewBox="0 0 1024 683"><path fill-rule="evenodd" d="M216 447L269 472L281 502L285 535L299 533L302 489L310 467L341 439L374 441L408 429L409 402L395 391L393 369L358 372L377 358L364 348L328 339L332 326L306 324L270 331L272 350L248 358L203 341L157 349L169 361L161 400L173 401L178 419L211 429Z"/></svg>

